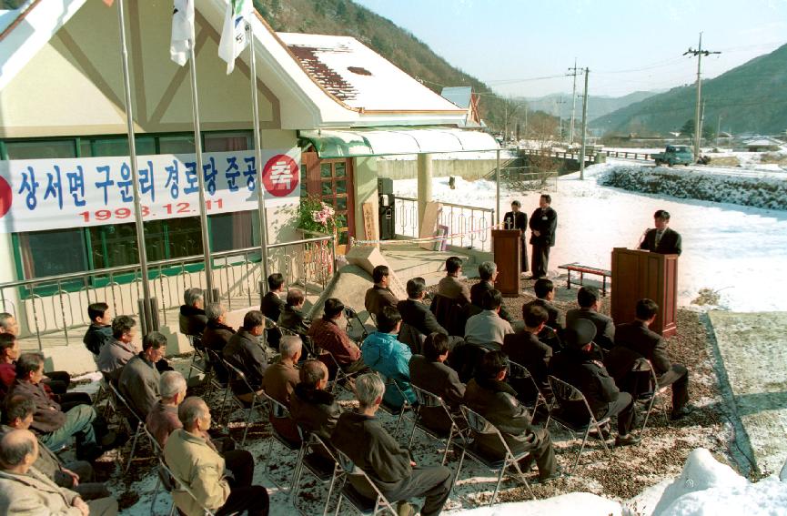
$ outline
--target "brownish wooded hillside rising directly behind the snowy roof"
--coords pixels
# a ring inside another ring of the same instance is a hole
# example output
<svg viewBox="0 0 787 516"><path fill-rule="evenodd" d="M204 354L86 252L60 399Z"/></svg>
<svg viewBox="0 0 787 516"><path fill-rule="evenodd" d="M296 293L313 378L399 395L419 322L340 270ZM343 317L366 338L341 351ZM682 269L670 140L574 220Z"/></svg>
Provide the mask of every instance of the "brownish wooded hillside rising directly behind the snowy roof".
<svg viewBox="0 0 787 516"><path fill-rule="evenodd" d="M254 6L277 32L353 36L437 93L443 86L472 86L480 95L481 118L494 130L512 131L526 121L519 101L494 96L489 86L451 66L415 35L350 0L254 0Z"/></svg>

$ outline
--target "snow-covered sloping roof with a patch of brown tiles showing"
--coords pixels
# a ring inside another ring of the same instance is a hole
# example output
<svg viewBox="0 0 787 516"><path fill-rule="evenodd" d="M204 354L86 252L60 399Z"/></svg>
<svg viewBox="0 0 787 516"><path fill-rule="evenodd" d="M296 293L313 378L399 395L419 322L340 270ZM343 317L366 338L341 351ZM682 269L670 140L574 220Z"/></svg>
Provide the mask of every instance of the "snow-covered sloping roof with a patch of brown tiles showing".
<svg viewBox="0 0 787 516"><path fill-rule="evenodd" d="M463 111L354 37L277 35L320 86L350 107L364 111Z"/></svg>

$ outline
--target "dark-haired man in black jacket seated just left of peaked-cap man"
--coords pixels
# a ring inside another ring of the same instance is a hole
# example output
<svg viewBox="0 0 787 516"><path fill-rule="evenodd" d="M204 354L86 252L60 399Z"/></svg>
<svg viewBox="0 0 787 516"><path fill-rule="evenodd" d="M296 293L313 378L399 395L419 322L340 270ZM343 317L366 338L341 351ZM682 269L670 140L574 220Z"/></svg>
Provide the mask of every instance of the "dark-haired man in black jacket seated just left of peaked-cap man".
<svg viewBox="0 0 787 516"><path fill-rule="evenodd" d="M522 309L525 319L525 329L519 333L506 335L503 340L503 353L509 359L524 366L540 390L549 390L550 383L547 381L547 371L550 367L552 349L539 340L539 333L547 323L547 310L536 305ZM522 394L522 393L520 393Z"/></svg>

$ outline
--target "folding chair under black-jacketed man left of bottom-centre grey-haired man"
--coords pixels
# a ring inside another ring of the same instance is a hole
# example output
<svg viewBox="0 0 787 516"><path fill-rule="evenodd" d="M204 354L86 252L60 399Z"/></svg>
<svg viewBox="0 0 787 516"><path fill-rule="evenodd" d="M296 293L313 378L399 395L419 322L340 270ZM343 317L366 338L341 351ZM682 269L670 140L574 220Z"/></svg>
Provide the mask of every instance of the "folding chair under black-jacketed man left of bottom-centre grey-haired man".
<svg viewBox="0 0 787 516"><path fill-rule="evenodd" d="M303 471L307 470L320 483L328 483L328 496L325 500L325 508L322 511L323 516L326 516L328 514L328 506L330 505L330 496L333 494L333 488L336 486L336 481L341 474L341 466L336 458L335 450L329 447L324 440L320 439L316 433L306 433L298 425L298 434L303 444L295 469L295 480L292 482L292 490L290 491L292 503L298 509L298 512L308 516L308 513L298 506L300 479Z"/></svg>

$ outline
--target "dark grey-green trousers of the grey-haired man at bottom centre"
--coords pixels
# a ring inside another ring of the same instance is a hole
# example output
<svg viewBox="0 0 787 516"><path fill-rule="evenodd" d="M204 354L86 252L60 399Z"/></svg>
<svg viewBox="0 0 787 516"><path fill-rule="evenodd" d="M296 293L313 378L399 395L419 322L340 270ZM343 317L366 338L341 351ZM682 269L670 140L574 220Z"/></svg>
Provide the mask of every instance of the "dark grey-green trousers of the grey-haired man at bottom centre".
<svg viewBox="0 0 787 516"><path fill-rule="evenodd" d="M353 477L350 477L350 481L352 480ZM407 501L421 496L426 497L420 513L421 516L432 516L442 511L443 505L449 498L452 483L453 474L451 470L445 466L432 466L429 468L413 468L409 479L400 481L394 487L378 485L378 488L391 503ZM364 485L366 485L365 482ZM358 491L367 496L367 498L375 499L375 494L369 493L368 489L360 488Z"/></svg>

